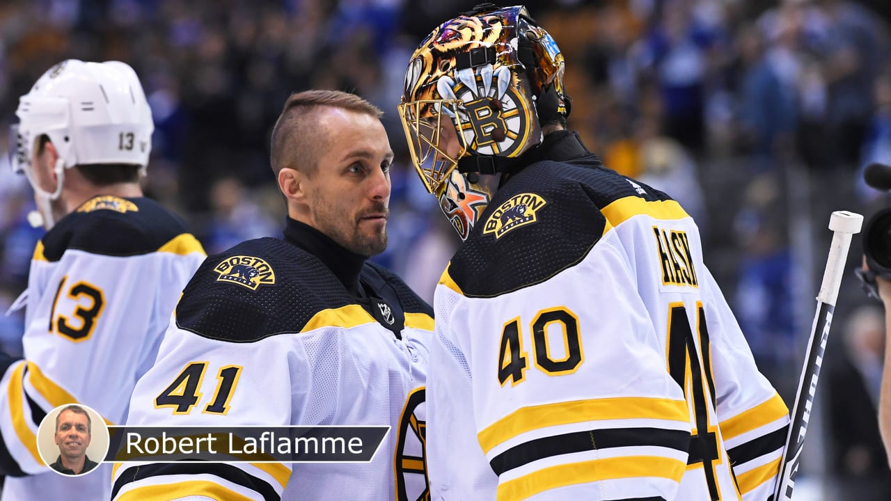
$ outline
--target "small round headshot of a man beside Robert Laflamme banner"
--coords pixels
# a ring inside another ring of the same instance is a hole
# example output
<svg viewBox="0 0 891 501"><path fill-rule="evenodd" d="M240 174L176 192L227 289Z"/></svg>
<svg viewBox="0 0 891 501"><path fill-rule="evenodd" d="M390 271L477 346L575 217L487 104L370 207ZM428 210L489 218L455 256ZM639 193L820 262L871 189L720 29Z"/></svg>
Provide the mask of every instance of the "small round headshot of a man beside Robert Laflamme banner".
<svg viewBox="0 0 891 501"><path fill-rule="evenodd" d="M108 448L109 430L102 415L79 404L54 408L37 429L37 452L61 475L90 472L105 458Z"/></svg>

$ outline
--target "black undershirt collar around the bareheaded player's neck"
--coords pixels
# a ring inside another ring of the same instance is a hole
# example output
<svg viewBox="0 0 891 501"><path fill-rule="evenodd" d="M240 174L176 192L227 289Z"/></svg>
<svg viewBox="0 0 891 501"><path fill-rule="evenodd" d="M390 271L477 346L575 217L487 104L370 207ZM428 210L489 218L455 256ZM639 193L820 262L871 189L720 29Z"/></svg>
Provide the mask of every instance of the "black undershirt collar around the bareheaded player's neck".
<svg viewBox="0 0 891 501"><path fill-rule="evenodd" d="M328 235L293 218L288 218L282 233L285 242L313 254L338 277L350 294L357 295L359 273L367 258L344 249Z"/></svg>

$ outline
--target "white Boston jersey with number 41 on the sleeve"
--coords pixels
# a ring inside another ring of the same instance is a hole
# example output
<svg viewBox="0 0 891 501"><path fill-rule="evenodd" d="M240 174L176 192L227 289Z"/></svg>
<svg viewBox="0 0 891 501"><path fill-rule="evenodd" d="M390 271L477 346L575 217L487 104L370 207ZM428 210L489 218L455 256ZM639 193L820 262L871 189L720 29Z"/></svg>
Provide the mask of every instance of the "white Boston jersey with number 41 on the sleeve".
<svg viewBox="0 0 891 501"><path fill-rule="evenodd" d="M432 310L382 267L365 263L358 278L365 300L315 255L274 238L209 257L136 385L127 424L390 426L370 463L115 464L114 498L429 496Z"/></svg>

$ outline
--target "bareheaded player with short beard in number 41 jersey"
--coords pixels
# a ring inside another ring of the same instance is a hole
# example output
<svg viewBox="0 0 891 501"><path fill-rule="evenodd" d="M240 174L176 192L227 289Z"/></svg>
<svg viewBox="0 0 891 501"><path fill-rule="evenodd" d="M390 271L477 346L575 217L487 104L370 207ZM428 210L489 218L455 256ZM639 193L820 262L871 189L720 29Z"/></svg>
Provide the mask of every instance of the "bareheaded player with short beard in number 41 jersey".
<svg viewBox="0 0 891 501"><path fill-rule="evenodd" d="M388 425L370 464L124 464L129 499L415 500L423 469L432 311L367 262L387 245L380 110L338 91L293 94L272 135L284 238L208 257L186 286L128 424ZM217 377L214 377L217 376Z"/></svg>

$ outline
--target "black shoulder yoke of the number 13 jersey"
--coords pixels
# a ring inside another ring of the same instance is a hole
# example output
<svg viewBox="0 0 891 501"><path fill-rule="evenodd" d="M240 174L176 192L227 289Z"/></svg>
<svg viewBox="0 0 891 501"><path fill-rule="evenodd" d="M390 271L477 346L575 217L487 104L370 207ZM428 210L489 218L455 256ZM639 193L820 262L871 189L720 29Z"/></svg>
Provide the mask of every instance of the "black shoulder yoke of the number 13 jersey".
<svg viewBox="0 0 891 501"><path fill-rule="evenodd" d="M66 250L125 257L154 252L186 233L183 220L156 201L101 196L61 218L41 242L48 261Z"/></svg>

